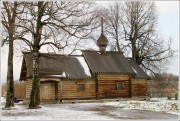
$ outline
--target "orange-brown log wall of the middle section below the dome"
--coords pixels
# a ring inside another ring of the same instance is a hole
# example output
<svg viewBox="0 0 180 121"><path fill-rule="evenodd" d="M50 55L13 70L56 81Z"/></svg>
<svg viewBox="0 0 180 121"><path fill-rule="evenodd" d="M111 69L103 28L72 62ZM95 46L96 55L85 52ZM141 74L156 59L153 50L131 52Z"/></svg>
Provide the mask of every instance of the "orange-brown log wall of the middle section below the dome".
<svg viewBox="0 0 180 121"><path fill-rule="evenodd" d="M99 74L97 75L97 79L99 98L130 97L129 75ZM124 89L118 90L117 83L123 84Z"/></svg>

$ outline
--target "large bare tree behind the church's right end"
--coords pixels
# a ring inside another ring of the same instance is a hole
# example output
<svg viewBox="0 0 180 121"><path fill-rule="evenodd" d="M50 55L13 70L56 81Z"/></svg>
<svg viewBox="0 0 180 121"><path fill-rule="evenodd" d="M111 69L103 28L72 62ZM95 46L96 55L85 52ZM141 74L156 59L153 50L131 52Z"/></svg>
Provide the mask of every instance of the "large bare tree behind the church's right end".
<svg viewBox="0 0 180 121"><path fill-rule="evenodd" d="M164 69L174 56L171 39L163 44L157 31L157 10L154 2L125 2L122 26L124 39L129 42L132 58L154 74Z"/></svg>

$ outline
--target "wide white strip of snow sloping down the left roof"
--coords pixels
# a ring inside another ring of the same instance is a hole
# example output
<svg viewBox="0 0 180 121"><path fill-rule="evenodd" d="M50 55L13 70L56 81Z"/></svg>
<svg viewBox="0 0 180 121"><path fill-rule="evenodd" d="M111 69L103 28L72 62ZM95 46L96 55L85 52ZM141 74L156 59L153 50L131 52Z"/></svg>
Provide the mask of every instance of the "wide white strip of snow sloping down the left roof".
<svg viewBox="0 0 180 121"><path fill-rule="evenodd" d="M87 76L91 76L91 73L90 73L90 70L89 70L89 67L84 59L84 57L76 57L79 61L79 63L82 65L82 67L84 68L84 71L85 71L85 74Z"/></svg>

